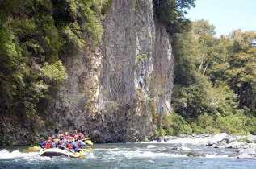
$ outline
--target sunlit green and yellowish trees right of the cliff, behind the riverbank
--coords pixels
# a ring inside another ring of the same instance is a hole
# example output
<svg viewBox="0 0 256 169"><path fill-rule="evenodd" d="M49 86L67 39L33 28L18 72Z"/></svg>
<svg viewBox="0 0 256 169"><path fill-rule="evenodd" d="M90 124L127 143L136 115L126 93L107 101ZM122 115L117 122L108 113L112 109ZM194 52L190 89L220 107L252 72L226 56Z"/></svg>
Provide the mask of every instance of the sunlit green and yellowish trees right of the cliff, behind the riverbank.
<svg viewBox="0 0 256 169"><path fill-rule="evenodd" d="M182 125L163 123L162 128L183 134L188 122L194 133L255 134L255 32L238 30L218 39L208 21L191 28L173 36L178 71L170 116L181 116L174 122Z"/></svg>

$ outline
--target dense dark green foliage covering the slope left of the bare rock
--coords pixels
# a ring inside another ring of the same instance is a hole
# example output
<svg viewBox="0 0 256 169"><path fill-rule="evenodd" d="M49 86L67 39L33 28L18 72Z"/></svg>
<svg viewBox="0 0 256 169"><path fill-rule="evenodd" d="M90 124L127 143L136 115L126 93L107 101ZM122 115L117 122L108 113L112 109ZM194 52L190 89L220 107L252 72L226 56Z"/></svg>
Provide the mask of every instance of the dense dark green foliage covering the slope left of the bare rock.
<svg viewBox="0 0 256 169"><path fill-rule="evenodd" d="M67 78L63 59L103 35L99 0L1 1L0 111L38 118Z"/></svg>

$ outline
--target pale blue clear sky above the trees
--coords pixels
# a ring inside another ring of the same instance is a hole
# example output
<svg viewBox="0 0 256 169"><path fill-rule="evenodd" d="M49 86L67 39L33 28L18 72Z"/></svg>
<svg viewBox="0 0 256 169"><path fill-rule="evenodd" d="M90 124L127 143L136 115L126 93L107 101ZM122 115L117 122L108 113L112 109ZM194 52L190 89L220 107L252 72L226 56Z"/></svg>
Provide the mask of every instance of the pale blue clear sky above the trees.
<svg viewBox="0 0 256 169"><path fill-rule="evenodd" d="M195 5L186 18L208 20L216 27L217 37L239 28L256 31L256 0L195 0Z"/></svg>

